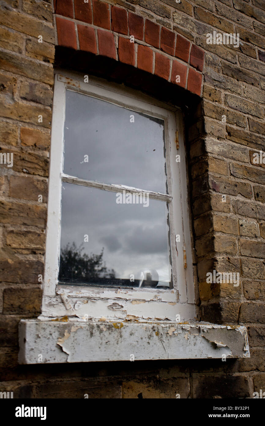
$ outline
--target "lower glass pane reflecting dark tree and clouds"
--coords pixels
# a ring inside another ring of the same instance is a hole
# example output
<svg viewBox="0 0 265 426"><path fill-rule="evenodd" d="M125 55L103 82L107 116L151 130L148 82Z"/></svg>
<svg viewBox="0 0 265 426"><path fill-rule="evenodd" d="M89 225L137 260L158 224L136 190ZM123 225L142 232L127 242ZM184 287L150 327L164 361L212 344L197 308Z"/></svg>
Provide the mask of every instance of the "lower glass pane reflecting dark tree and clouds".
<svg viewBox="0 0 265 426"><path fill-rule="evenodd" d="M169 287L166 202L135 196L118 204L126 194L62 185L60 282Z"/></svg>

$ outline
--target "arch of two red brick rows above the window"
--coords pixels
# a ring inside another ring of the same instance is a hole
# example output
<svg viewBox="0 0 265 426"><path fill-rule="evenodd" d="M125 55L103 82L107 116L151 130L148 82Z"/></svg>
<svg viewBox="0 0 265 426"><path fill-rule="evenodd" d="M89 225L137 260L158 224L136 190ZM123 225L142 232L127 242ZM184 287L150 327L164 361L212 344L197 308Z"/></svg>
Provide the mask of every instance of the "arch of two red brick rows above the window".
<svg viewBox="0 0 265 426"><path fill-rule="evenodd" d="M54 0L54 12L57 45L119 60L201 95L204 51L180 34L98 0Z"/></svg>

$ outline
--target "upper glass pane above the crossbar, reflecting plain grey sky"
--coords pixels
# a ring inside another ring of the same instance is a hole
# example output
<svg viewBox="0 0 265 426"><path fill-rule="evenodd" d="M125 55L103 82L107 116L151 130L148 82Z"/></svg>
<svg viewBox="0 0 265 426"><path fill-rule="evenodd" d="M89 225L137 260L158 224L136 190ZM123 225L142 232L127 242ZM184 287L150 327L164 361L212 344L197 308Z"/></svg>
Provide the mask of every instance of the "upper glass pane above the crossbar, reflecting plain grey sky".
<svg viewBox="0 0 265 426"><path fill-rule="evenodd" d="M164 121L66 90L63 172L167 193Z"/></svg>

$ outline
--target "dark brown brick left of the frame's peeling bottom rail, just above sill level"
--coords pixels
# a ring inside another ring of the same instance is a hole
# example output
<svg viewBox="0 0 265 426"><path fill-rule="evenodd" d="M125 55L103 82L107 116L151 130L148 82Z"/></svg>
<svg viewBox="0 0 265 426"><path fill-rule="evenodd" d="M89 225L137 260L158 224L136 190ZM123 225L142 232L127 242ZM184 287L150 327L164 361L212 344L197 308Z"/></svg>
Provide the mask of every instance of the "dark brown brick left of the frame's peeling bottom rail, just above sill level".
<svg viewBox="0 0 265 426"><path fill-rule="evenodd" d="M3 313L39 313L41 296L40 288L5 288L3 291Z"/></svg>

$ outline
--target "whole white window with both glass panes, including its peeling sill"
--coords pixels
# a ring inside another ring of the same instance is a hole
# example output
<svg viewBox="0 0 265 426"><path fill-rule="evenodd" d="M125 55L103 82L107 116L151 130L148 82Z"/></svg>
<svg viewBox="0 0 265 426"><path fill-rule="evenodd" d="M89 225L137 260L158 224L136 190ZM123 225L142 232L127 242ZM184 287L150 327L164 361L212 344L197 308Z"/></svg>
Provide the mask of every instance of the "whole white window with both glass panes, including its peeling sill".
<svg viewBox="0 0 265 426"><path fill-rule="evenodd" d="M42 315L20 321L19 362L249 357L245 327L194 322L188 218L181 111L56 75Z"/></svg>

